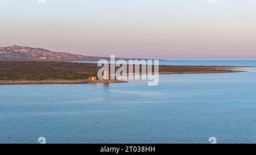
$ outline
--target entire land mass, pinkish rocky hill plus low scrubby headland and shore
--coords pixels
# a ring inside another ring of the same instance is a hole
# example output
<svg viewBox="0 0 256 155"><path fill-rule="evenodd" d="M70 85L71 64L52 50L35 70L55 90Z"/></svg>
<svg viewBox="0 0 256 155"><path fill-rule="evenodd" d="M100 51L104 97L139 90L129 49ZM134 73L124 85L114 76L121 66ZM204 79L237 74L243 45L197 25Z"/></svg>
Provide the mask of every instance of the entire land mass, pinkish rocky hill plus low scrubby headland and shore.
<svg viewBox="0 0 256 155"><path fill-rule="evenodd" d="M0 85L34 83L122 82L118 80L91 81L100 67L92 63L66 61L109 60L106 57L82 56L52 52L43 48L12 45L0 47ZM134 65L135 67L135 65ZM140 66L141 67L141 66ZM234 73L248 66L174 66L159 65L159 74ZM117 69L117 68L116 68Z"/></svg>

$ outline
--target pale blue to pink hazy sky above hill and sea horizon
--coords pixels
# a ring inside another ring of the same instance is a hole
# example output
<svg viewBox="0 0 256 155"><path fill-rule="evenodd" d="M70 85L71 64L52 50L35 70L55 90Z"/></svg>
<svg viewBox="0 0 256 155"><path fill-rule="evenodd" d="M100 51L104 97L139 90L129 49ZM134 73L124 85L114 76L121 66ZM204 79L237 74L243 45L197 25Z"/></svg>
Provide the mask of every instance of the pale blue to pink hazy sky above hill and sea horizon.
<svg viewBox="0 0 256 155"><path fill-rule="evenodd" d="M0 46L87 56L256 58L256 0L0 0Z"/></svg>

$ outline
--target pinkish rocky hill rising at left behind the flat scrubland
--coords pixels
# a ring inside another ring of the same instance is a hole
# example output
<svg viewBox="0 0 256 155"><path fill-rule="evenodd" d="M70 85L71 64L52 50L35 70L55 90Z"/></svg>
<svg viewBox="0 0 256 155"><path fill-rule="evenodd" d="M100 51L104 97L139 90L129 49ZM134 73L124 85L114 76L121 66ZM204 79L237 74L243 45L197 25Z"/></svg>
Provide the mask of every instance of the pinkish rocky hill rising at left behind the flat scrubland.
<svg viewBox="0 0 256 155"><path fill-rule="evenodd" d="M82 56L66 52L52 52L43 48L22 47L17 45L0 47L0 60L93 61L100 60L101 58L103 57Z"/></svg>

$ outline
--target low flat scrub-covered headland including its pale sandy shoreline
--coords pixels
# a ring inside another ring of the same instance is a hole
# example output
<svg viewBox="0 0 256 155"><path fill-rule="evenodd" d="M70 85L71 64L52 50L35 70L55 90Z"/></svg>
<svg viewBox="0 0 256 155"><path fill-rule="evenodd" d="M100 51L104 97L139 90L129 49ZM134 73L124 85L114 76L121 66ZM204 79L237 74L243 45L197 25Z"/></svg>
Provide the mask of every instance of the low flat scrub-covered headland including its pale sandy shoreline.
<svg viewBox="0 0 256 155"><path fill-rule="evenodd" d="M255 66L179 66L159 65L158 74L209 74L247 72ZM122 83L119 80L97 80L97 64L54 61L0 61L0 85ZM118 68L115 68L118 69ZM123 73L129 74L129 73ZM134 72L134 74L145 74Z"/></svg>

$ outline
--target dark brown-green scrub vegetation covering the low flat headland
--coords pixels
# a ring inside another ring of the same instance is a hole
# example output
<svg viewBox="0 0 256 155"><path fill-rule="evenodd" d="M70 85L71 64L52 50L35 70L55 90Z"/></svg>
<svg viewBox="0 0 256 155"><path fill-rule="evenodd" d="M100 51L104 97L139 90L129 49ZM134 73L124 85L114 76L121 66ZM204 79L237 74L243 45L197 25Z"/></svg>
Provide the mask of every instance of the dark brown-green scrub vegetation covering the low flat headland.
<svg viewBox="0 0 256 155"><path fill-rule="evenodd" d="M232 73L238 66L167 66L160 74ZM242 67L242 66L240 66ZM0 61L1 80L86 79L97 76L97 64L56 61ZM118 69L118 68L116 68ZM154 69L153 69L154 70Z"/></svg>

